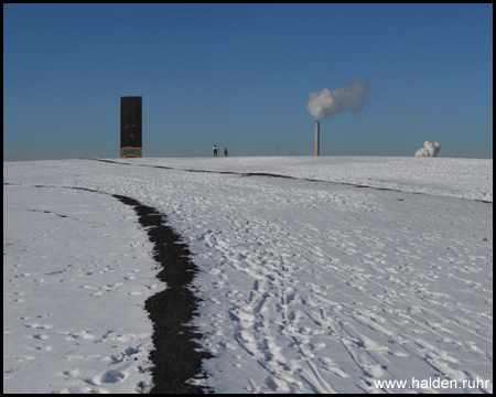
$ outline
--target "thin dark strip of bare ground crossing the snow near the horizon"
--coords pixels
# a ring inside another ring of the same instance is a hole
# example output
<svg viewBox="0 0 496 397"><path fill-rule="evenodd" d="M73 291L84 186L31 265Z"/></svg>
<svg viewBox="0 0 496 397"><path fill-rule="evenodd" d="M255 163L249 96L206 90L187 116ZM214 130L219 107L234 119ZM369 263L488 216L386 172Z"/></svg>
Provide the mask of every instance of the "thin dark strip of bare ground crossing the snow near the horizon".
<svg viewBox="0 0 496 397"><path fill-rule="evenodd" d="M87 159L82 159L82 160L87 160ZM280 174L273 174L273 173L268 173L268 172L208 171L208 170L195 170L195 169L179 169L179 168L165 167L165 165L131 164L131 163L125 163L125 162L120 162L120 161L111 161L111 160L103 160L103 159L89 159L89 160L96 160L96 161L101 161L101 162L109 162L109 163L121 164L121 165L150 167L150 168L159 168L159 169L165 169L165 170L186 171L186 172L205 172L205 173L230 174L230 175L239 175L239 176L283 178L283 179L292 179L292 180L298 180L298 181L328 183L328 184L335 184L335 185L347 185L347 186L352 186L352 187L371 189L371 190L398 192L398 193L405 193L405 194L409 193L409 194L420 194L420 195L429 195L429 196L432 195L432 194L429 194L429 193L421 193L421 192L405 192L405 191L401 191L401 190L398 190L398 189L390 189L390 187L358 185L358 184L355 184L355 183L347 183L347 182L323 181L323 180L315 180L315 179L310 179L310 178L298 178L298 176L280 175ZM493 204L493 202L487 201L487 200L460 198L460 197L451 197L451 198L459 198L459 200L464 200L464 201L477 201L477 202L481 202L481 203Z"/></svg>

